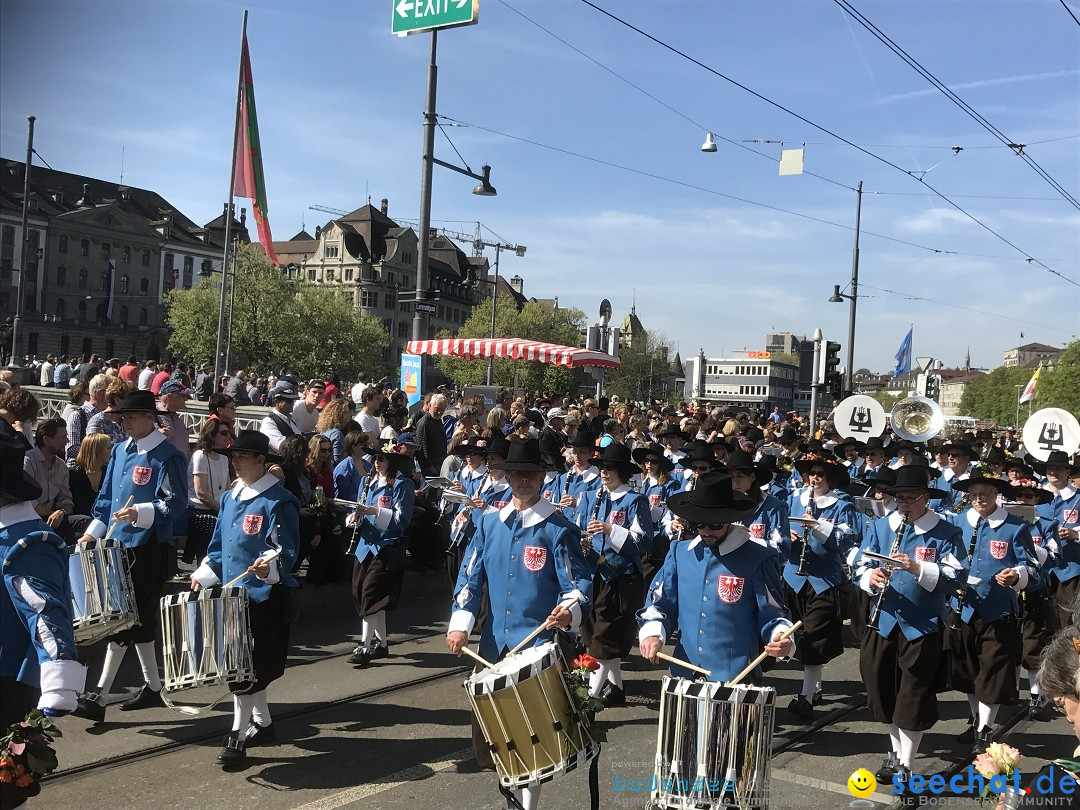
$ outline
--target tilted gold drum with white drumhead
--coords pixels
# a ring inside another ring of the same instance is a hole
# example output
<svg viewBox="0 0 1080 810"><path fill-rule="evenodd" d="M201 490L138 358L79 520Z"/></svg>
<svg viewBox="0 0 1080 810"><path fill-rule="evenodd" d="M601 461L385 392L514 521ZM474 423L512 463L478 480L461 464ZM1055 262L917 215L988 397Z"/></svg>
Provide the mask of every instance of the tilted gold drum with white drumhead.
<svg viewBox="0 0 1080 810"><path fill-rule="evenodd" d="M503 787L554 779L595 757L590 720L570 699L554 642L523 650L465 680L473 714Z"/></svg>

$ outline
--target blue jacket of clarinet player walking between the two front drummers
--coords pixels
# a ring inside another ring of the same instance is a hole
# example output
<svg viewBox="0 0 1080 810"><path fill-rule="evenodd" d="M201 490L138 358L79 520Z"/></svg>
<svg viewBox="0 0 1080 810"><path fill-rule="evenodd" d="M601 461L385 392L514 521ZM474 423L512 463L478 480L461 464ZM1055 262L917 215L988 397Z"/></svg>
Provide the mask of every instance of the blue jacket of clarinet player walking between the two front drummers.
<svg viewBox="0 0 1080 810"><path fill-rule="evenodd" d="M642 573L643 561L652 549L654 530L649 501L632 492L625 484L611 492L606 489L585 492L575 512L582 534L589 527L599 492L604 492L604 497L596 519L611 524L611 534L594 535L592 551L585 558L605 582L629 573Z"/></svg>

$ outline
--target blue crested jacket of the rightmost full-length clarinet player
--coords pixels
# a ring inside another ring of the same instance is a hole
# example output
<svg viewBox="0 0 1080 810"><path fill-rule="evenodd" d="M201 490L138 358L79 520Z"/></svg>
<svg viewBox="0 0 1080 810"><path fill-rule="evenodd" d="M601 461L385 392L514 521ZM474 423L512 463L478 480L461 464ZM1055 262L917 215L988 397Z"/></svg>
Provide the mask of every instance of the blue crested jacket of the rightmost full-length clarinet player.
<svg viewBox="0 0 1080 810"><path fill-rule="evenodd" d="M961 559L967 559L978 513L974 509L968 509L949 519L963 531ZM1015 616L1020 610L1016 594L1027 586L1030 579L1028 559L1035 557L1035 545L1027 524L998 507L980 525L975 552L971 557L968 566L968 591L961 613L963 621L970 622L974 616L984 622ZM994 579L1008 568L1020 576L1012 588L999 585ZM956 597L950 599L954 607L956 602Z"/></svg>

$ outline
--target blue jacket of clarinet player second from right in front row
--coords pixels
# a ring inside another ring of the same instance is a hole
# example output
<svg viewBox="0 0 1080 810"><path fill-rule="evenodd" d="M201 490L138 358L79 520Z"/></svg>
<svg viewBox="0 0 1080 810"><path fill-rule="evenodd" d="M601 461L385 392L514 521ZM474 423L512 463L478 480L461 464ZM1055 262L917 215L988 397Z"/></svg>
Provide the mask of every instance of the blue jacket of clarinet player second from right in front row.
<svg viewBox="0 0 1080 810"><path fill-rule="evenodd" d="M900 526L901 516L896 512L866 526L855 561L855 580L872 599L876 599L880 591L870 585L870 573L880 564L863 556L863 552L890 556ZM897 625L908 640L941 631L945 602L963 582L966 566L961 563L964 556L961 541L960 529L936 512L927 512L905 528L895 553L907 554L919 563L921 570L918 576L892 571L878 618L877 632L882 638L888 638Z"/></svg>

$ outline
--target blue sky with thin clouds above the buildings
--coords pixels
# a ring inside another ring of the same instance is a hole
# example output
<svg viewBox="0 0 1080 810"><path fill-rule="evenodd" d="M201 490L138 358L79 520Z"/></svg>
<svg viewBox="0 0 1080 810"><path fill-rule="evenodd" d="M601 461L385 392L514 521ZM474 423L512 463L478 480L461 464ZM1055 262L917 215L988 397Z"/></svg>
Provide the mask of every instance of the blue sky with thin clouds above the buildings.
<svg viewBox="0 0 1080 810"><path fill-rule="evenodd" d="M863 180L856 367L891 368L912 324L915 354L947 365L970 346L973 365L997 366L1021 333L1080 334L1080 286L1025 260L1080 283L1080 212L833 0L595 2L899 170L581 0L484 0L478 25L440 37L437 109L469 124L445 131L474 171L492 166L499 195L436 167L432 217L527 245L501 264L527 295L592 316L607 297L621 318L636 291L645 325L684 356L815 326L846 342L848 307L827 298L851 275ZM1059 0L852 2L1080 195L1080 25ZM368 194L416 219L429 37L392 36L391 0L4 0L0 151L24 157L35 114L54 168L119 179L123 151L125 183L213 218L244 8L275 239L328 218L309 205ZM833 183L779 176L781 145L754 139L805 144L807 170ZM461 162L441 133L435 153Z"/></svg>

